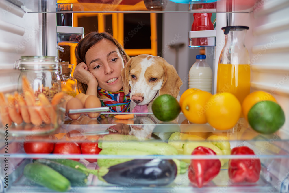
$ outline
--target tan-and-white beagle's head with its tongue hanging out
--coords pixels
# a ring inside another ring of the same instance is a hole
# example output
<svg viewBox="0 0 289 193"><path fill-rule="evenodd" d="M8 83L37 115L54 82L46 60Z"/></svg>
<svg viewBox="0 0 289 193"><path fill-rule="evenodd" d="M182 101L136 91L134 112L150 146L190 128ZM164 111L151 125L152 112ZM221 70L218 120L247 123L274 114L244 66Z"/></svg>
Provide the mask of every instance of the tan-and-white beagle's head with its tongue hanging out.
<svg viewBox="0 0 289 193"><path fill-rule="evenodd" d="M164 58L141 54L129 59L121 71L123 91L130 92L130 112L152 112L153 100L159 95L169 94L179 100L183 84L173 65Z"/></svg>

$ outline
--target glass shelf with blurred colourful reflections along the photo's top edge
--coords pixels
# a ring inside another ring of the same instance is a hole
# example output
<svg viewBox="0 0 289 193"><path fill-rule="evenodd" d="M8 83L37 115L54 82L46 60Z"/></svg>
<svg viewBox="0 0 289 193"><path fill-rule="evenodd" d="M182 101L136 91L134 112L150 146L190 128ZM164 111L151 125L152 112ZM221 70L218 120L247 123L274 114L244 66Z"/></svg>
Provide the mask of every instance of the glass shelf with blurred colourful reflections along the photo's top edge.
<svg viewBox="0 0 289 193"><path fill-rule="evenodd" d="M258 0L57 0L24 1L21 8L26 12L251 12ZM147 3L147 2L151 3ZM174 2L173 2L174 1ZM103 3L102 3L103 2ZM155 3L152 3L155 2Z"/></svg>

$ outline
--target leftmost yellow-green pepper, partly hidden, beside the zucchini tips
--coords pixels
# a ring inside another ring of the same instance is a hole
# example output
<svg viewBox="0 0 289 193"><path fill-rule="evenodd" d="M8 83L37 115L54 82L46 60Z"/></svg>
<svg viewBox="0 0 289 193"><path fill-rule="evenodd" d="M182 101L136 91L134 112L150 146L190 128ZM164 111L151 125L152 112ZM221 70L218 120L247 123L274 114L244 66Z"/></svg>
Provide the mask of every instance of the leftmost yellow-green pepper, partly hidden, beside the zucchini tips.
<svg viewBox="0 0 289 193"><path fill-rule="evenodd" d="M183 154L183 146L186 141L203 141L205 140L202 137L197 135L189 135L180 132L175 132L168 139L168 144L175 147L178 150L179 154Z"/></svg>

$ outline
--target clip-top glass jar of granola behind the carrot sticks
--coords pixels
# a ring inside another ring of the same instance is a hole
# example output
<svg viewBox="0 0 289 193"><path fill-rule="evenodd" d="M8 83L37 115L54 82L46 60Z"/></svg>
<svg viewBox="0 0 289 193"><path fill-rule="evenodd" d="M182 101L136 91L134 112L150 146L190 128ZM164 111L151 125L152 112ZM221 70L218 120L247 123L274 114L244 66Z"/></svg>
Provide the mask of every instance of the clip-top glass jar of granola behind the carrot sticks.
<svg viewBox="0 0 289 193"><path fill-rule="evenodd" d="M61 92L59 62L53 56L21 56L14 64L14 69L20 70L18 78L18 93L25 91L25 87L33 90L34 97L43 93L49 100Z"/></svg>

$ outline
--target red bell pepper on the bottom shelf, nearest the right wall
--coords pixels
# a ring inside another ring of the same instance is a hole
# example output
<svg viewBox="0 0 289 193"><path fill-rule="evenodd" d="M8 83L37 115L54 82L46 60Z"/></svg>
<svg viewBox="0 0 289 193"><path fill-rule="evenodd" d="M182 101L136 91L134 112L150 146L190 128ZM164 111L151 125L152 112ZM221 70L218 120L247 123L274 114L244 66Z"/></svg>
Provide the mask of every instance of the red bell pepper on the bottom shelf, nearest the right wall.
<svg viewBox="0 0 289 193"><path fill-rule="evenodd" d="M247 146L240 146L233 148L231 155L255 155L255 153ZM228 173L232 182L257 182L260 171L259 158L229 160Z"/></svg>

